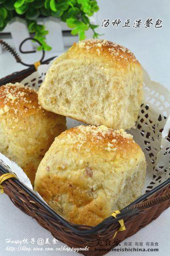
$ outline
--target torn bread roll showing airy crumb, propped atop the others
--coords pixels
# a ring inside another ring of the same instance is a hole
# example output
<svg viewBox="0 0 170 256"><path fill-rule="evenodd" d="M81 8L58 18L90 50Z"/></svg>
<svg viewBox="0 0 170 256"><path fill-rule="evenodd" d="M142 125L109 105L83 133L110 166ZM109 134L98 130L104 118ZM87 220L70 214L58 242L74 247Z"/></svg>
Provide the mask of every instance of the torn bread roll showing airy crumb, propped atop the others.
<svg viewBox="0 0 170 256"><path fill-rule="evenodd" d="M130 50L106 40L74 44L49 68L42 108L91 125L134 127L142 104L142 67Z"/></svg>

